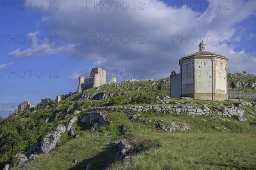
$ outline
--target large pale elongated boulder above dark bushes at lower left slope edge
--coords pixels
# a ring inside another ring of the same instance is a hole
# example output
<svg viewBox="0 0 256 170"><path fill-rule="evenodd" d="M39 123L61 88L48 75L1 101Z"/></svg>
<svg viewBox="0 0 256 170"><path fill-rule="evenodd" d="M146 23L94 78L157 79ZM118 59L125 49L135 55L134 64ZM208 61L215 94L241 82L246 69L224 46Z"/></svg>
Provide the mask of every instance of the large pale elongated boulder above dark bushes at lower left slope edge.
<svg viewBox="0 0 256 170"><path fill-rule="evenodd" d="M58 125L54 132L48 133L48 135L41 141L41 152L49 153L53 148L58 145L61 134L64 133L66 127L63 125Z"/></svg>

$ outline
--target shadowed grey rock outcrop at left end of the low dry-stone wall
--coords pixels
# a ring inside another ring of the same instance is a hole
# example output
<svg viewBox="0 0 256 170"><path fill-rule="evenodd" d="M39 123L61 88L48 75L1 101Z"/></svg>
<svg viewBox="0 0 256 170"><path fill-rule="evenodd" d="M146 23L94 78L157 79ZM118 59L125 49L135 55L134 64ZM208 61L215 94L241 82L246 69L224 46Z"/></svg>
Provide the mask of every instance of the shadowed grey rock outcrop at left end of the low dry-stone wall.
<svg viewBox="0 0 256 170"><path fill-rule="evenodd" d="M81 122L85 122L87 125L93 125L95 123L98 123L101 126L106 126L107 121L105 119L106 114L102 113L100 111L92 111L89 113L86 113L83 117L81 117Z"/></svg>

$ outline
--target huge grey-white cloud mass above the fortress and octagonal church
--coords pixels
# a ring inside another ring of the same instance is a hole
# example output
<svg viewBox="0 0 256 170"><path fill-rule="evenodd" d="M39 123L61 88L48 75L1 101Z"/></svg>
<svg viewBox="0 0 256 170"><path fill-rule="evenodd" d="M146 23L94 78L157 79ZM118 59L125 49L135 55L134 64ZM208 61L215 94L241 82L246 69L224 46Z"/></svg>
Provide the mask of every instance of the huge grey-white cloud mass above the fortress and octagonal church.
<svg viewBox="0 0 256 170"><path fill-rule="evenodd" d="M241 28L236 25L255 15L256 1L229 1L229 10L220 10L218 1L211 1L215 8L204 13L189 8L172 8L158 0L143 1L143 4L137 4L136 10L133 1L128 1L126 10L120 7L122 1L118 1L116 8L112 4L111 9L95 6L96 1L90 1L93 5L88 6L87 2L59 1L59 10L40 10L44 15L41 22L47 23L50 34L57 34L67 44L76 44L69 48L72 52L67 51L74 59L91 61L95 67L127 69L130 78L134 77L134 70L137 72L135 78L139 78L141 73L138 71L142 69L144 77L159 79L168 77L172 69L179 68L178 60L197 52L198 44L204 40L208 42L207 51L230 59L230 71L255 71L255 53L244 51L241 54L232 43L242 41L243 37L238 34ZM104 3L97 1L100 2ZM141 5L144 9L138 10ZM204 35L203 39L201 35ZM225 40L230 44L224 44ZM24 57L41 52L53 54L65 47L58 50L48 45L47 49L48 52L38 45L26 51L17 49L13 54ZM237 63L243 65L238 67ZM79 75L79 72L73 73L71 79ZM120 77L120 72L118 78L126 79Z"/></svg>

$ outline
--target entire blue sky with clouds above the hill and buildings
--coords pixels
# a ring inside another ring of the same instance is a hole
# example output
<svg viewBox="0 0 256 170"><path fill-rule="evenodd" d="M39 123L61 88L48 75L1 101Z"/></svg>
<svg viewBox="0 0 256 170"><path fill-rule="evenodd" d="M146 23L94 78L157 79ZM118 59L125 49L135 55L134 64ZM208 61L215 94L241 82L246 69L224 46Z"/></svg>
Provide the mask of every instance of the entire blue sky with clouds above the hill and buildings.
<svg viewBox="0 0 256 170"><path fill-rule="evenodd" d="M168 77L202 35L207 51L229 58L229 72L256 74L255 0L50 2L0 1L2 117L25 99L75 92L93 67L118 70L118 82Z"/></svg>

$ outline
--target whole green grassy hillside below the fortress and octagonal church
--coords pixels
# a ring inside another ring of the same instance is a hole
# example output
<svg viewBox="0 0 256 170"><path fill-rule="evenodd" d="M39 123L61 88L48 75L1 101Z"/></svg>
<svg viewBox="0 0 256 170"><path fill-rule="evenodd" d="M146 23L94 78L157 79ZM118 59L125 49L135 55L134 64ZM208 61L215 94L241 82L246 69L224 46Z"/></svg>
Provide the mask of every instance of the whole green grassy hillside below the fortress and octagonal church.
<svg viewBox="0 0 256 170"><path fill-rule="evenodd" d="M99 106L160 105L156 96L169 96L169 79L145 82L105 84L98 88L75 93L61 102L38 105L28 111L0 119L0 164L12 162L16 153L26 151L32 144L59 124L66 125L74 111L86 114L87 108ZM247 122L234 117L226 121L217 113L223 107L237 105L234 101L201 101L170 99L170 105L207 104L209 116L174 115L171 113L140 113L131 120L131 114L109 112L109 125L91 131L80 119L74 124L78 138L62 134L60 146L39 159L28 161L14 169L80 170L92 163L99 169L256 169L256 107L244 105ZM15 122L19 122L17 125ZM190 130L169 132L163 130L170 123L186 123ZM123 127L125 125L125 131ZM12 128L10 128L12 127ZM8 133L6 133L8 132ZM15 140L14 139L15 134ZM134 144L134 153L128 161L115 159L121 139ZM142 141L142 142L141 142Z"/></svg>

